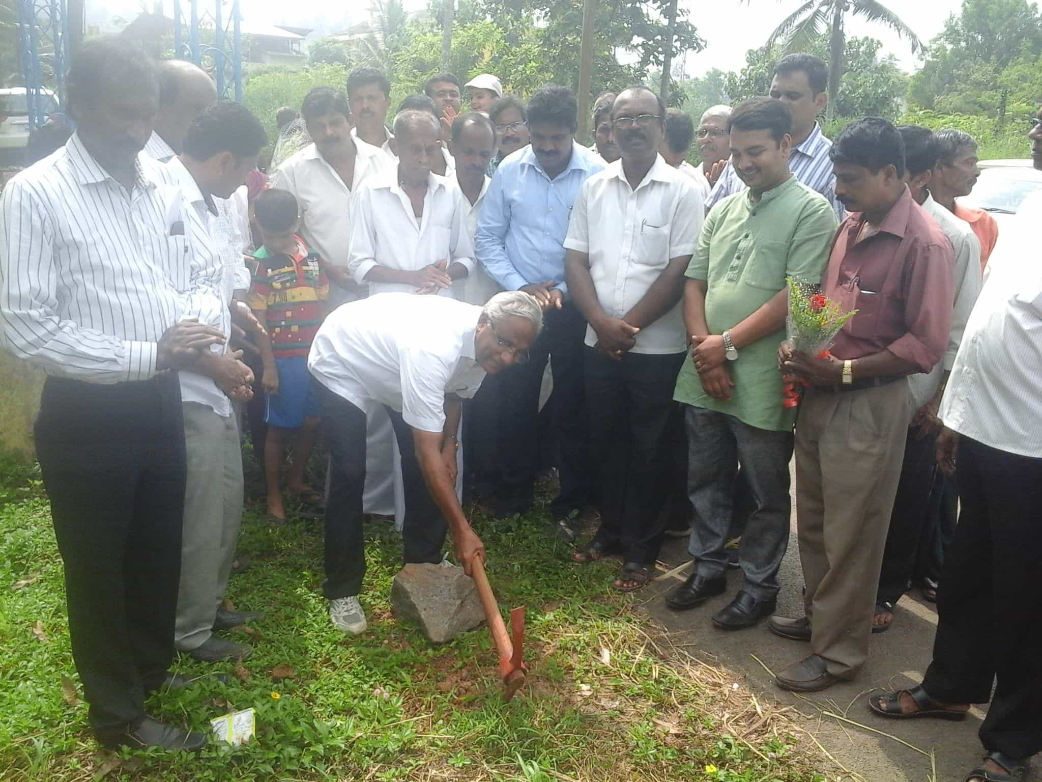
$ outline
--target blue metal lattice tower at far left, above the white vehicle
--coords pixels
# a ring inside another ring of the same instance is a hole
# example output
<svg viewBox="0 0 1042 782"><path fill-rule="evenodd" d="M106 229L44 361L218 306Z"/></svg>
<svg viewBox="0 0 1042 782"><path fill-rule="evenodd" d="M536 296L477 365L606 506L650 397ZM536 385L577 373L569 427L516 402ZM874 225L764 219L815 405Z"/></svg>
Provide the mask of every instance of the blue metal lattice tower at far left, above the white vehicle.
<svg viewBox="0 0 1042 782"><path fill-rule="evenodd" d="M65 77L69 70L70 39L66 0L17 0L19 62L25 79L29 127L47 121L50 95L65 106Z"/></svg>

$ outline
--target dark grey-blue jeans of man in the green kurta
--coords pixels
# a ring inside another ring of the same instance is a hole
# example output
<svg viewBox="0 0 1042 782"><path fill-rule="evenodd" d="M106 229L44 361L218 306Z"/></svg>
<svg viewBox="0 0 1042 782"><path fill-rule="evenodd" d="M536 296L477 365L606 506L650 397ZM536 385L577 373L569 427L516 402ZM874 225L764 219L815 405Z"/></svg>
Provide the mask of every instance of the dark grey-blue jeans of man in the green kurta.
<svg viewBox="0 0 1042 782"><path fill-rule="evenodd" d="M742 534L742 590L758 600L777 594L777 572L789 545L789 461L792 432L772 432L713 410L685 405L688 429L688 495L695 509L688 551L696 572L724 575L723 546L734 511L735 476L741 463L754 509Z"/></svg>

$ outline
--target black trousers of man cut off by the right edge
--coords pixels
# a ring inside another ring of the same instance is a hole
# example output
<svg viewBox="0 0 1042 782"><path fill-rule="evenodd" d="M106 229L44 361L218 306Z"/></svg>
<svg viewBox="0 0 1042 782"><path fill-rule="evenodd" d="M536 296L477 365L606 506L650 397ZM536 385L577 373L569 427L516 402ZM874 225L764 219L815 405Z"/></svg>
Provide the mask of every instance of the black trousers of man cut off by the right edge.
<svg viewBox="0 0 1042 782"><path fill-rule="evenodd" d="M1042 459L964 437L959 496L922 686L947 703L990 699L985 749L1025 759L1042 750Z"/></svg>

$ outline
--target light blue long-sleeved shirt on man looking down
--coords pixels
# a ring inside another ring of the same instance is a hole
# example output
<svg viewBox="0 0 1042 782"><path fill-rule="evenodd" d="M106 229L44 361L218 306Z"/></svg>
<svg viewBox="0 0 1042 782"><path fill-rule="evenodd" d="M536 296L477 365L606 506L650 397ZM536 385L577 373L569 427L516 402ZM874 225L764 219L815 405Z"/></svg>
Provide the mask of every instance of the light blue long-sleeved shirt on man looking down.
<svg viewBox="0 0 1042 782"><path fill-rule="evenodd" d="M572 204L582 182L603 168L575 142L568 167L553 179L530 145L507 155L492 177L474 238L489 276L508 291L553 280L567 297L564 241Z"/></svg>

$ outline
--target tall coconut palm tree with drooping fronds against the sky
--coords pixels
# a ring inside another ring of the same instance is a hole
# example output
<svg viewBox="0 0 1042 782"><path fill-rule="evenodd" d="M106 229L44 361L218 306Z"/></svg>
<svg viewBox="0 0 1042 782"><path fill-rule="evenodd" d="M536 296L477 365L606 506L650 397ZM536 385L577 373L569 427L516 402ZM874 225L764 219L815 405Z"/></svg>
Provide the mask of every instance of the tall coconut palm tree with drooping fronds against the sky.
<svg viewBox="0 0 1042 782"><path fill-rule="evenodd" d="M750 0L741 0L749 2ZM843 21L847 15L885 25L908 42L913 53L923 45L900 17L877 0L799 0L799 7L786 17L767 39L767 47L777 46L785 54L807 48L812 41L828 31L828 118L832 119L843 76L843 50L846 33Z"/></svg>

